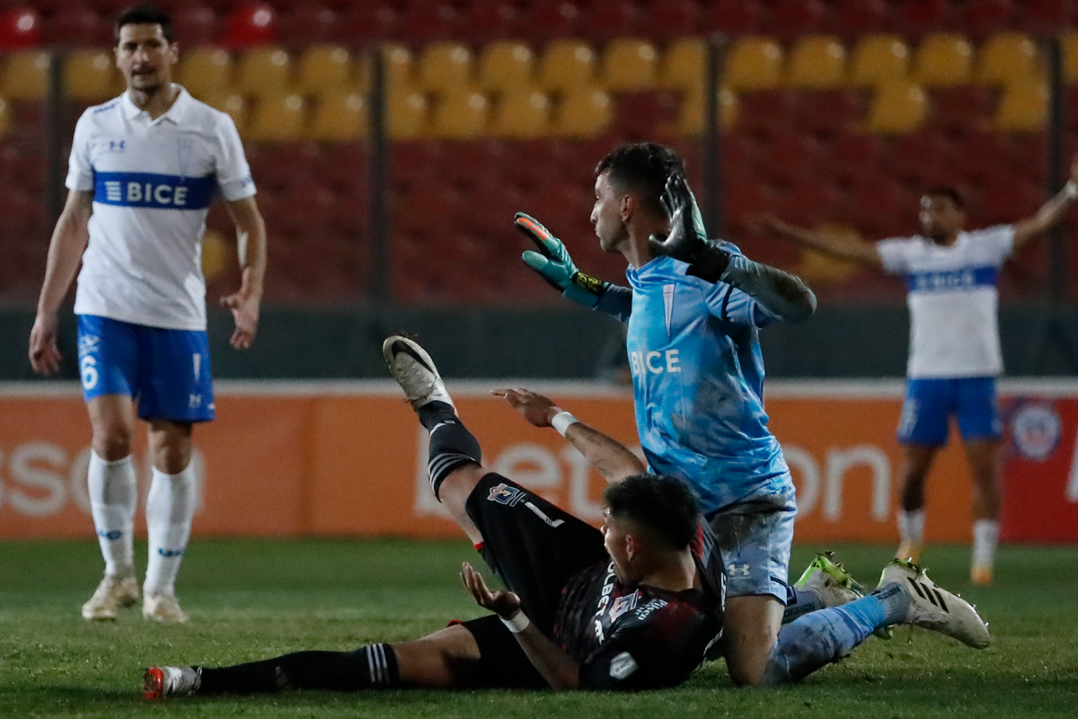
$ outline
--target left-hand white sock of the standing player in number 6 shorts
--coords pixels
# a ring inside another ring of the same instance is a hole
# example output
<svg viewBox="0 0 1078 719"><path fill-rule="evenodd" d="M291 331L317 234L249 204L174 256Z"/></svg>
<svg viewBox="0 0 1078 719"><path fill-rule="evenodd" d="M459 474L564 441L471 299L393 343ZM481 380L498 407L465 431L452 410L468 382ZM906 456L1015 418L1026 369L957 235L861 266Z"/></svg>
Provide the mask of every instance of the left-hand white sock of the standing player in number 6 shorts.
<svg viewBox="0 0 1078 719"><path fill-rule="evenodd" d="M135 571L135 507L138 487L132 458L106 461L89 451L89 512L109 575Z"/></svg>

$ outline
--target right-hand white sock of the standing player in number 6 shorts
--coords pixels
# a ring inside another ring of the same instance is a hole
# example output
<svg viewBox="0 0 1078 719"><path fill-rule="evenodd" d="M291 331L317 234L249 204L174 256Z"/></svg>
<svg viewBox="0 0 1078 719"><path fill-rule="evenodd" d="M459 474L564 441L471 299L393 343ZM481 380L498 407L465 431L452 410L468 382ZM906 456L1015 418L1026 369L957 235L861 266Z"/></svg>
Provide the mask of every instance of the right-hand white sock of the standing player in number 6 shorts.
<svg viewBox="0 0 1078 719"><path fill-rule="evenodd" d="M174 594L176 575L191 536L195 512L195 470L192 465L179 474L154 468L146 498L146 527L150 539L150 562L146 568L144 594Z"/></svg>

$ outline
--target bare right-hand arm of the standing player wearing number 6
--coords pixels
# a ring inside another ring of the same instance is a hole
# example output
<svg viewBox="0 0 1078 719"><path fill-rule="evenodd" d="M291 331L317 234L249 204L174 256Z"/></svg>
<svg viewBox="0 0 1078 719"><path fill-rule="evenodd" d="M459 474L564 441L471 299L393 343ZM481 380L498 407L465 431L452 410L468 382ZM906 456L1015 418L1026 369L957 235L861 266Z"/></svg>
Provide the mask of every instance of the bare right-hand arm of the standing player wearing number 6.
<svg viewBox="0 0 1078 719"><path fill-rule="evenodd" d="M225 203L225 207L236 223L243 278L239 291L221 298L221 306L232 310L236 322L236 330L230 340L232 346L247 349L259 328L259 306L266 272L266 225L254 197Z"/></svg>

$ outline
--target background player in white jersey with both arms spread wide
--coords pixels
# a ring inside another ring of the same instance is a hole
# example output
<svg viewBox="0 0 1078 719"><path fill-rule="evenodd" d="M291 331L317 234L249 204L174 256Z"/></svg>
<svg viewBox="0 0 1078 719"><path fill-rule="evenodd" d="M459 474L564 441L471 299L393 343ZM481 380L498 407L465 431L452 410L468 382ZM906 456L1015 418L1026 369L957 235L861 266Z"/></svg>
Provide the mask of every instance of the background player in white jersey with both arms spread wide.
<svg viewBox="0 0 1078 719"><path fill-rule="evenodd" d="M903 450L900 558L918 561L925 524L925 478L946 444L955 416L973 475L973 583L992 582L999 537L1001 423L995 379L1003 372L996 317L999 267L1015 250L1059 223L1078 197L1070 181L1037 212L1010 225L967 232L962 196L951 188L921 198L922 234L874 246L793 227L774 217L765 229L828 254L903 275L909 289L910 360L898 440Z"/></svg>

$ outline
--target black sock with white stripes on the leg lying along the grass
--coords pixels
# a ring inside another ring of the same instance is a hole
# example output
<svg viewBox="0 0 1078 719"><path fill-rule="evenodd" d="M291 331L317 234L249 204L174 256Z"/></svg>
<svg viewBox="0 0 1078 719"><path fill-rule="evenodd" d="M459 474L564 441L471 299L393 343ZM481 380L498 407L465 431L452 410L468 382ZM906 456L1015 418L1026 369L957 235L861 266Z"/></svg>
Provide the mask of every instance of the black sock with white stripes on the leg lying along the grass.
<svg viewBox="0 0 1078 719"><path fill-rule="evenodd" d="M354 692L400 686L397 655L389 645L357 651L300 651L261 662L203 667L199 694L265 694L281 689Z"/></svg>

